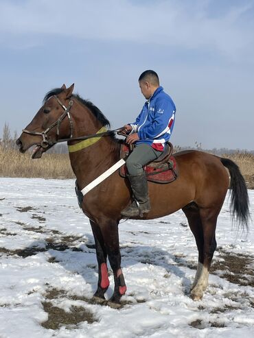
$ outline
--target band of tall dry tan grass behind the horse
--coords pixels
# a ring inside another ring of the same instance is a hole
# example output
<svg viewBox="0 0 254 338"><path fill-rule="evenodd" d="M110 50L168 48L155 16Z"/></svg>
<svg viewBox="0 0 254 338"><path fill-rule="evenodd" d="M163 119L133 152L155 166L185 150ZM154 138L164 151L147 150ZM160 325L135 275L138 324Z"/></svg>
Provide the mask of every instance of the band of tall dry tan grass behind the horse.
<svg viewBox="0 0 254 338"><path fill-rule="evenodd" d="M221 157L230 158L239 167L249 189L254 189L254 155L235 152ZM31 154L21 154L0 146L0 176L25 178L73 178L68 154L43 154L32 160Z"/></svg>

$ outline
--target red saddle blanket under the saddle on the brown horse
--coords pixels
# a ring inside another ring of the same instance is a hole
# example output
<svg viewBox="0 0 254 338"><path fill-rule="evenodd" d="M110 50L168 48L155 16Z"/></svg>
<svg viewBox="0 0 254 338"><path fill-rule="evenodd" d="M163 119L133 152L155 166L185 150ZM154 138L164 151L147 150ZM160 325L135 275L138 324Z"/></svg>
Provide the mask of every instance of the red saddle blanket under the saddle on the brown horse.
<svg viewBox="0 0 254 338"><path fill-rule="evenodd" d="M121 158L126 158L129 154L129 148L123 144L121 149ZM170 183L177 178L177 163L174 156L165 156L161 162L150 162L144 166L146 178L148 181L157 183ZM127 168L123 165L119 169L119 174L123 178L126 177Z"/></svg>

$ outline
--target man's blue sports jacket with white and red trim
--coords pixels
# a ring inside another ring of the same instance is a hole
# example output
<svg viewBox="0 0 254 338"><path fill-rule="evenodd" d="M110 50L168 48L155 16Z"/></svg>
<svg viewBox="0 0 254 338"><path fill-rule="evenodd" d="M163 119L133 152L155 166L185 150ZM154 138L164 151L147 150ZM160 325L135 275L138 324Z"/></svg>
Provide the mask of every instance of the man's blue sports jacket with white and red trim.
<svg viewBox="0 0 254 338"><path fill-rule="evenodd" d="M164 93L159 86L154 94L143 105L141 113L132 126L132 132L137 132L139 141L136 145L147 143L154 149L163 150L169 141L174 128L176 106L170 95Z"/></svg>

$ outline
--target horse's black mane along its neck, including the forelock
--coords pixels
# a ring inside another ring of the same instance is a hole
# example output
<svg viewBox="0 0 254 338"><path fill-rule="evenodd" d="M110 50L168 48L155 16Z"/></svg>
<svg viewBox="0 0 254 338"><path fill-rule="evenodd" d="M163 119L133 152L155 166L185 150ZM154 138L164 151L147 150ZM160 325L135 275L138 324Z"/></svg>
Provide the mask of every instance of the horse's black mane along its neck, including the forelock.
<svg viewBox="0 0 254 338"><path fill-rule="evenodd" d="M52 90L50 90L44 97L43 99L43 104L45 104L45 102L52 96L54 95L58 95L60 93L62 93L64 89L63 88L54 88ZM108 119L106 119L106 117L104 116L104 114L100 111L99 108L97 108L91 101L89 100L85 100L82 99L82 97L80 97L80 95L78 94L73 94L73 97L75 97L78 101L80 101L82 104L84 104L84 106L86 106L86 108L89 108L89 110L91 110L91 112L93 113L93 115L96 117L96 119L98 121L100 121L100 123L102 123L102 125L106 125L108 126L108 128L110 128L111 123L108 121Z"/></svg>

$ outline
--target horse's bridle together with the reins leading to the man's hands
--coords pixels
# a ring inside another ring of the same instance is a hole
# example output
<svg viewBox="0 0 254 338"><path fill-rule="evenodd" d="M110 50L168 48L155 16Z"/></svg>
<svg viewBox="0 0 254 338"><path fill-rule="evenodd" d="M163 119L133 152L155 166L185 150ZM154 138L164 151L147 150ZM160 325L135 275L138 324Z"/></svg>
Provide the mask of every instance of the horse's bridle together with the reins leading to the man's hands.
<svg viewBox="0 0 254 338"><path fill-rule="evenodd" d="M46 149L49 146L52 146L56 143L60 143L60 142L66 142L66 141L79 141L79 140L86 140L86 138L93 138L93 137L101 137L101 136L108 136L111 135L115 132L119 132L120 130L122 130L122 128L118 128L115 130L108 130L106 132L101 132L101 133L97 133L97 134L92 134L92 135L88 135L88 136L80 136L80 137L76 137L73 138L73 121L71 120L71 107L73 106L73 100L70 99L69 101L69 105L66 108L64 104L62 104L62 102L60 101L60 99L58 99L58 97L56 95L54 95L54 98L56 99L56 101L58 102L58 104L60 104L60 106L62 107L62 109L64 110L64 112L61 114L61 116L59 117L58 120L56 120L54 123L52 123L51 125L49 125L49 127L44 130L43 132L31 132L30 130L27 129L23 129L22 132L24 132L25 134L30 134L30 135L38 135L41 136L43 138L43 140L41 141L41 147L43 147L44 149ZM69 138L59 138L59 134L60 134L60 125L62 123L62 121L65 119L65 117L68 117L69 120ZM48 132L53 129L54 127L56 127L56 140L54 142L50 141L48 138Z"/></svg>

